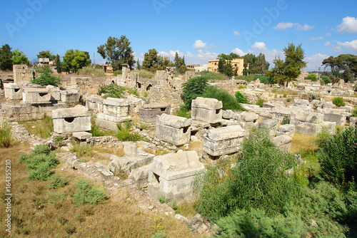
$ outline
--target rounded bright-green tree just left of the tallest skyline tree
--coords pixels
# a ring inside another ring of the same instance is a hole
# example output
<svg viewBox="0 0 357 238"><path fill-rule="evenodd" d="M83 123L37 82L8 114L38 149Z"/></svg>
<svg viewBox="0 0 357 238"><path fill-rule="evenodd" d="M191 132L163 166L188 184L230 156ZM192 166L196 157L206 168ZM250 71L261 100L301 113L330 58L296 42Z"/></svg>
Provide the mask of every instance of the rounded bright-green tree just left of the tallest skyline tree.
<svg viewBox="0 0 357 238"><path fill-rule="evenodd" d="M62 63L62 67L66 72L72 71L76 73L80 68L89 66L89 64L91 64L91 60L87 58L86 53L70 49L64 56L64 63Z"/></svg>

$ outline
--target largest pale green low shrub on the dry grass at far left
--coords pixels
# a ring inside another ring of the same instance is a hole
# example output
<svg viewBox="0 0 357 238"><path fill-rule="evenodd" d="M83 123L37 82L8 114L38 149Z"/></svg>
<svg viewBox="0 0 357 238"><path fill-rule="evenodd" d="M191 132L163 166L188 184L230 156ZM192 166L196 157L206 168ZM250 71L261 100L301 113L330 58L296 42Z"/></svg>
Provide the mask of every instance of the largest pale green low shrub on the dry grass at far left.
<svg viewBox="0 0 357 238"><path fill-rule="evenodd" d="M29 170L28 180L48 180L53 174L50 170L59 164L54 152L46 145L37 145L29 155L21 155L19 162Z"/></svg>

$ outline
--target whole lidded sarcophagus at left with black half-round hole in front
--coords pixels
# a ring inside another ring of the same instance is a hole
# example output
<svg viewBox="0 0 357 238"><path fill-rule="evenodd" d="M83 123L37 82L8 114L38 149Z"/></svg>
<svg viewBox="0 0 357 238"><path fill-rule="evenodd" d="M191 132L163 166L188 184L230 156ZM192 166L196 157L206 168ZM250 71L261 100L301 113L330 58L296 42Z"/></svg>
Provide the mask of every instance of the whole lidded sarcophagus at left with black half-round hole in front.
<svg viewBox="0 0 357 238"><path fill-rule="evenodd" d="M62 108L52 111L54 132L76 133L91 130L91 117L88 109L82 105L74 108Z"/></svg>

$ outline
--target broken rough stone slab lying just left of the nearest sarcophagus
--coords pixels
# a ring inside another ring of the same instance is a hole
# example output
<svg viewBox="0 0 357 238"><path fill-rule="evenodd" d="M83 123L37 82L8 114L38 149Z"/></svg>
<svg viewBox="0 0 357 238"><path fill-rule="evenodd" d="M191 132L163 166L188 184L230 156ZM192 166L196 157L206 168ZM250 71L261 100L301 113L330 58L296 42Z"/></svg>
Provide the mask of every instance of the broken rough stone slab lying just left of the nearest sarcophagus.
<svg viewBox="0 0 357 238"><path fill-rule="evenodd" d="M151 164L154 161L154 157L155 155L151 155L149 153L146 156L124 155L123 157L118 157L116 155L112 155L109 168L113 173L122 171L129 174L131 170Z"/></svg>

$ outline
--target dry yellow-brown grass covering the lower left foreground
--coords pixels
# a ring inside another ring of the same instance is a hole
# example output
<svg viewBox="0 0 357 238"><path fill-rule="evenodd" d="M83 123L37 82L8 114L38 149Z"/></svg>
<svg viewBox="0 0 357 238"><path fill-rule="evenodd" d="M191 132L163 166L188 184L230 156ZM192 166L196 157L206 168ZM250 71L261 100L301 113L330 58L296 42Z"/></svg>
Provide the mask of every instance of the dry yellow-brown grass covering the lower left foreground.
<svg viewBox="0 0 357 238"><path fill-rule="evenodd" d="M61 171L61 165L54 171L69 181L65 187L49 189L46 182L27 181L26 168L18 161L21 152L29 152L29 146L14 142L10 148L0 148L0 187L5 187L4 162L11 159L13 194L11 234L3 228L0 237L151 237L153 234L156 214L141 212L135 205L109 197L94 207L74 206L71 196L79 175ZM0 202L1 215L5 214L5 206L5 202ZM161 222L161 229L169 237L192 237L188 227L174 217L165 216ZM4 219L0 220L0 226L5 227Z"/></svg>

